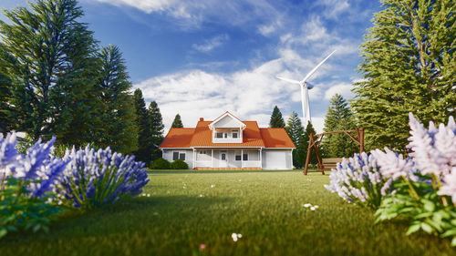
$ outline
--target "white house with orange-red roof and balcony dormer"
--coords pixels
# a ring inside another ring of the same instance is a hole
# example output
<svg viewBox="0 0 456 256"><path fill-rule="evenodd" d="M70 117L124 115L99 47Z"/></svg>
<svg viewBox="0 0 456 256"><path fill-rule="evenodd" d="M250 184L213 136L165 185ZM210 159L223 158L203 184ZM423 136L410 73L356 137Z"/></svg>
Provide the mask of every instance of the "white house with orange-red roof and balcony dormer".
<svg viewBox="0 0 456 256"><path fill-rule="evenodd" d="M293 169L295 144L285 128L259 128L226 111L196 128L171 128L160 145L163 159L189 169Z"/></svg>

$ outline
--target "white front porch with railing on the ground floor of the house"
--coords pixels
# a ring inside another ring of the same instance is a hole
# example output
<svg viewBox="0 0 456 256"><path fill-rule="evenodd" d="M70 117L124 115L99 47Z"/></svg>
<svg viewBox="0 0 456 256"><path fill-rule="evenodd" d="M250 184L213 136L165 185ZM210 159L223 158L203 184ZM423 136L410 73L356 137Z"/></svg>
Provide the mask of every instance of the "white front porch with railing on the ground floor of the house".
<svg viewBox="0 0 456 256"><path fill-rule="evenodd" d="M193 148L193 169L262 169L262 148Z"/></svg>

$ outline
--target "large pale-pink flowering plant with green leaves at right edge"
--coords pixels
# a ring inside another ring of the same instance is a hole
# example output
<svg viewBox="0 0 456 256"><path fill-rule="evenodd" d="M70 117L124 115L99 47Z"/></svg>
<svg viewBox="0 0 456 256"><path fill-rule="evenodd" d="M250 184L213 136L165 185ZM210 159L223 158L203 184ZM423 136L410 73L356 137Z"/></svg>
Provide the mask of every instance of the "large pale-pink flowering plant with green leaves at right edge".
<svg viewBox="0 0 456 256"><path fill-rule="evenodd" d="M424 128L409 114L409 159L389 148L377 149L383 176L393 179L392 189L376 212L377 222L403 217L410 220L408 234L418 230L452 237L456 246L456 124Z"/></svg>

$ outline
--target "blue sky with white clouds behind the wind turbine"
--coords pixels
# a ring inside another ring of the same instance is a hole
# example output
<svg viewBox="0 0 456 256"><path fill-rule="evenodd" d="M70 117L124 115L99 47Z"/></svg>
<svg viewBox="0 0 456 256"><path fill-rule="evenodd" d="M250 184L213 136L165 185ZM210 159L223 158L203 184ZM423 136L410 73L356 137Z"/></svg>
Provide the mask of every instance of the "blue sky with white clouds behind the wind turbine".
<svg viewBox="0 0 456 256"><path fill-rule="evenodd" d="M119 46L133 87L156 100L170 127L177 113L185 127L224 111L267 127L277 105L285 118L302 117L300 88L275 78L302 79L333 50L310 79L317 131L340 93L352 98L359 79L358 46L374 0L80 0L84 22L101 46ZM0 7L26 5L3 0ZM4 19L4 16L0 16Z"/></svg>

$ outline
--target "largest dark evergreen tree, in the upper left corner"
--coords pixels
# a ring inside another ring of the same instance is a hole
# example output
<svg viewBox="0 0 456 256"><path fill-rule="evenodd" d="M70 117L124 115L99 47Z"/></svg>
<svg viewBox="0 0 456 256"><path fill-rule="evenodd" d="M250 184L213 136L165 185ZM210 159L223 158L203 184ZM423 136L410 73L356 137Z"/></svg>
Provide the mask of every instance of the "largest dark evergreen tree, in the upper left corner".
<svg viewBox="0 0 456 256"><path fill-rule="evenodd" d="M95 84L98 42L76 0L37 0L5 11L0 73L11 80L17 129L83 145L103 131Z"/></svg>

